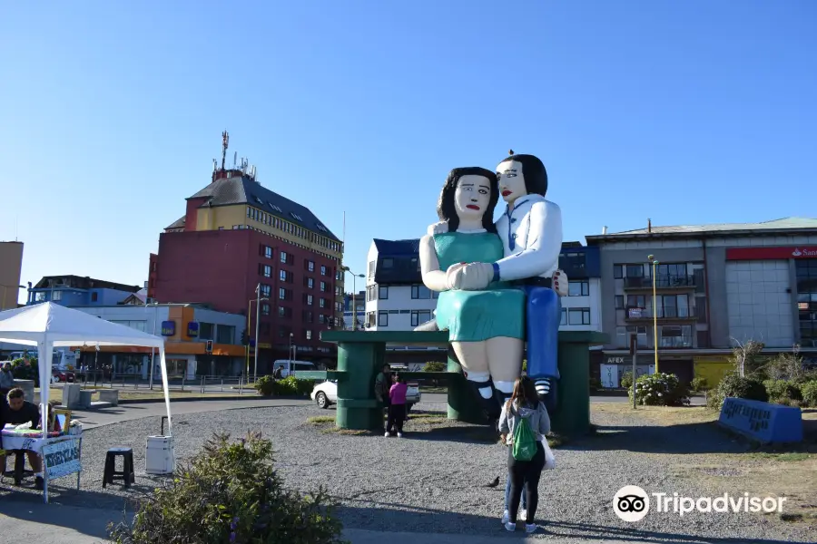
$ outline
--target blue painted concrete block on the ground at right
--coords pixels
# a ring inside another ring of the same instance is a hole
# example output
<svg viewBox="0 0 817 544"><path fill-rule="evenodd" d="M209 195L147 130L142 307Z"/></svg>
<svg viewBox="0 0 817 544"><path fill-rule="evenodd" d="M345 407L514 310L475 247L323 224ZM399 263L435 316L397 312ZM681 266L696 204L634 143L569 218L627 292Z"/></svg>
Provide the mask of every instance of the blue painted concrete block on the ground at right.
<svg viewBox="0 0 817 544"><path fill-rule="evenodd" d="M782 404L727 397L718 423L763 444L802 441L800 408Z"/></svg>

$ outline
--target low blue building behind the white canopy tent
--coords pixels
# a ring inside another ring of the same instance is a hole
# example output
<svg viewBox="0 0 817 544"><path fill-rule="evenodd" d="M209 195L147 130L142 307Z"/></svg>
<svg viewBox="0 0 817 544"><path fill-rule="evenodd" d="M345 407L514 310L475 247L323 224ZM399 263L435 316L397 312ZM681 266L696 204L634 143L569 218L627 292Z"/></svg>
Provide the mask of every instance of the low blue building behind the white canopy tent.
<svg viewBox="0 0 817 544"><path fill-rule="evenodd" d="M47 276L28 288L25 305L53 302L61 306L115 306L140 288L92 277Z"/></svg>

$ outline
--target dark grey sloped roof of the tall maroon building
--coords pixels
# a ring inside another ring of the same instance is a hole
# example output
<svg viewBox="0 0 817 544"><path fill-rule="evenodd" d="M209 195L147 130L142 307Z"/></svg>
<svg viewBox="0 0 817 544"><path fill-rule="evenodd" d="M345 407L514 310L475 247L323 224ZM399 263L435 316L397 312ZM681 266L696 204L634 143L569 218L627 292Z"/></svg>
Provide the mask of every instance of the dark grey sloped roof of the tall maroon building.
<svg viewBox="0 0 817 544"><path fill-rule="evenodd" d="M208 201L202 204L201 208L208 206L249 204L264 210L272 216L290 221L290 223L300 225L312 232L317 232L322 236L340 242L340 238L335 236L329 228L321 223L309 208L301 206L298 202L282 197L277 192L265 188L260 183L253 181L249 176L233 176L231 178L215 180L189 199L201 198L208 198ZM178 223L178 221L176 221L176 223ZM173 223L173 225L176 223Z"/></svg>

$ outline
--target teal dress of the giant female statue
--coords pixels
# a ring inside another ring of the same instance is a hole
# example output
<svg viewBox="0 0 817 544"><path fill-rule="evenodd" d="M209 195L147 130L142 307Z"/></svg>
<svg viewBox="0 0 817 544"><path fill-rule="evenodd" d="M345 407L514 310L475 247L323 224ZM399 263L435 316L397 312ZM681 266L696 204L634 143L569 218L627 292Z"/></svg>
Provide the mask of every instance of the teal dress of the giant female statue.
<svg viewBox="0 0 817 544"><path fill-rule="evenodd" d="M503 257L496 234L447 232L434 235L440 270L456 263L493 263ZM482 342L508 336L524 338L525 292L501 282L484 291L451 290L439 294L437 325L451 342Z"/></svg>

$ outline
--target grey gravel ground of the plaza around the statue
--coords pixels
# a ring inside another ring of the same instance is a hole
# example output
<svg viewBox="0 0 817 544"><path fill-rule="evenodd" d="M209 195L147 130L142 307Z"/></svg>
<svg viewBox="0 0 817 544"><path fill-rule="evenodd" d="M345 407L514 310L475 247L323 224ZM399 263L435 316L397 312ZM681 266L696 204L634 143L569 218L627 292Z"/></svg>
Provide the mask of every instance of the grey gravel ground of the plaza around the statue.
<svg viewBox="0 0 817 544"><path fill-rule="evenodd" d="M437 406L418 405L418 411ZM439 418L414 420L402 439L382 435L331 432L330 426L306 423L313 415L334 415L313 407L253 408L174 418L177 459L199 452L212 431L241 436L261 430L278 451L278 467L290 488L301 491L327 486L342 503L349 528L501 536L507 449L491 443L487 433L467 424ZM626 524L611 509L615 491L638 485L652 493L678 492L686 497L713 493L695 481L666 470L661 452L741 452L740 442L710 426L651 427L634 416L594 413L595 437L556 450L555 471L540 485L538 518L547 533L583 539L628 539L642 542L814 542L814 527L791 524L751 513L698 512L683 518L651 512ZM158 479L144 474L144 438L159 429L159 418L146 418L93 429L83 445L83 490L72 479L56 481L52 501L66 505L118 509L123 499L150 492ZM702 444L705 444L703 446ZM102 489L104 452L115 445L134 450L136 485ZM497 488L487 482L499 476ZM20 498L36 500L20 489ZM27 496L27 497L24 497ZM509 536L509 535L508 535Z"/></svg>

